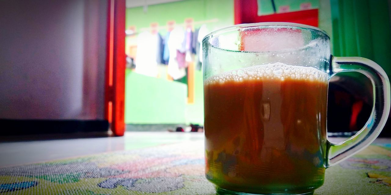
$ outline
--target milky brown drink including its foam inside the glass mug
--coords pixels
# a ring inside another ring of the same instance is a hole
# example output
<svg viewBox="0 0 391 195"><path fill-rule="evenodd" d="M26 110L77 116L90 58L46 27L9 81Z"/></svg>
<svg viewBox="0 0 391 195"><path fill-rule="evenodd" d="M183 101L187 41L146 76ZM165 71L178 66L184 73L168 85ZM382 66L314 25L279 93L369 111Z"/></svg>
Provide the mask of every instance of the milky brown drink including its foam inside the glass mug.
<svg viewBox="0 0 391 195"><path fill-rule="evenodd" d="M305 193L321 186L327 78L311 67L269 64L206 80L207 179L247 193Z"/></svg>

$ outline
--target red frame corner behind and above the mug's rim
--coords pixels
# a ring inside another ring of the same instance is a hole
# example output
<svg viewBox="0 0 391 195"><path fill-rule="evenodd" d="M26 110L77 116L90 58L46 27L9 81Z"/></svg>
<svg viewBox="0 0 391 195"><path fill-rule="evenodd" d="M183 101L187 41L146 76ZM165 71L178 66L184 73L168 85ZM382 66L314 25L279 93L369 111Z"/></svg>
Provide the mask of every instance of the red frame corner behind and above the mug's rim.
<svg viewBox="0 0 391 195"><path fill-rule="evenodd" d="M258 16L257 0L235 0L234 16L235 25L257 22L293 22L314 27L319 25L318 9Z"/></svg>

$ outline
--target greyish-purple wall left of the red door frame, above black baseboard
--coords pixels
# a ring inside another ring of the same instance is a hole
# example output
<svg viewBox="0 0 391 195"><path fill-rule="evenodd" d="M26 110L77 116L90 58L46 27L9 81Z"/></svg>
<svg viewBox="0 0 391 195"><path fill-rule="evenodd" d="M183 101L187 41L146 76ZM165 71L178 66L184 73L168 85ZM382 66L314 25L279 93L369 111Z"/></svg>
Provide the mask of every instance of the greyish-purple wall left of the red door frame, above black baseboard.
<svg viewBox="0 0 391 195"><path fill-rule="evenodd" d="M106 2L0 2L0 119L103 119Z"/></svg>

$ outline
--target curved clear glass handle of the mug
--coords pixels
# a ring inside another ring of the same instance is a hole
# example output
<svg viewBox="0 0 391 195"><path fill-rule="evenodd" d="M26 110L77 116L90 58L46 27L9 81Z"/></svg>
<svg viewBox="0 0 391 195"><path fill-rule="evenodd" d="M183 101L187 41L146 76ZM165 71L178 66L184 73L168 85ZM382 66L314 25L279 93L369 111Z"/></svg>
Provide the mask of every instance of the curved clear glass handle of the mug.
<svg viewBox="0 0 391 195"><path fill-rule="evenodd" d="M390 83L386 72L375 62L362 57L334 57L330 63L330 75L341 72L359 72L371 80L373 107L364 127L349 139L333 144L327 140L326 168L340 163L361 151L380 134L390 111Z"/></svg>

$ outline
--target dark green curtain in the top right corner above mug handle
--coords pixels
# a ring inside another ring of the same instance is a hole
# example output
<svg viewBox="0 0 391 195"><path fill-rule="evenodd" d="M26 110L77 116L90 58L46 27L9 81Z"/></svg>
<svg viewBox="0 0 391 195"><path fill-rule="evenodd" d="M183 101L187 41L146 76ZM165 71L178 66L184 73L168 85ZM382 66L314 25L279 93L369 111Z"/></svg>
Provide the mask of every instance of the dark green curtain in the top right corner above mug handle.
<svg viewBox="0 0 391 195"><path fill-rule="evenodd" d="M369 58L390 77L391 30L387 0L330 0L330 3L333 55Z"/></svg>

